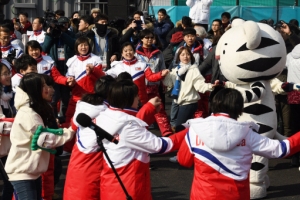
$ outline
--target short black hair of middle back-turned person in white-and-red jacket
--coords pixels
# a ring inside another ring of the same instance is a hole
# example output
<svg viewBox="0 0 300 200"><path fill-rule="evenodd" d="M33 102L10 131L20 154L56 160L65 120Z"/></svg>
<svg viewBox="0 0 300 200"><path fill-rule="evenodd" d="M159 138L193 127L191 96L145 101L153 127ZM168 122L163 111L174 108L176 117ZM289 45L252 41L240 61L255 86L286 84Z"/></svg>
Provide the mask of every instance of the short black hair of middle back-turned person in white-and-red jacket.
<svg viewBox="0 0 300 200"><path fill-rule="evenodd" d="M130 108L138 95L138 87L130 80L113 83L109 90L107 101L110 106L124 109Z"/></svg>

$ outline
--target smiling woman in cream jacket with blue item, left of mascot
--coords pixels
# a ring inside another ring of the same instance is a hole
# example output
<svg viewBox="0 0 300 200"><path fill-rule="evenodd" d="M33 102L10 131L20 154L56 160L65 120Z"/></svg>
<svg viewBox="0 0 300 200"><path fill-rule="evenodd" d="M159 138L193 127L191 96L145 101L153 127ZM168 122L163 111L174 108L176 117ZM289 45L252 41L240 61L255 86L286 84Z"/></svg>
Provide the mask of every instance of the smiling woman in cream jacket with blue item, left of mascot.
<svg viewBox="0 0 300 200"><path fill-rule="evenodd" d="M165 77L163 83L168 87L174 86L171 95L175 103L179 105L175 123L175 131L178 131L179 125L193 118L200 99L198 92L212 91L214 85L205 83L198 66L194 64L195 58L188 47L181 47L178 50L176 63L178 66Z"/></svg>

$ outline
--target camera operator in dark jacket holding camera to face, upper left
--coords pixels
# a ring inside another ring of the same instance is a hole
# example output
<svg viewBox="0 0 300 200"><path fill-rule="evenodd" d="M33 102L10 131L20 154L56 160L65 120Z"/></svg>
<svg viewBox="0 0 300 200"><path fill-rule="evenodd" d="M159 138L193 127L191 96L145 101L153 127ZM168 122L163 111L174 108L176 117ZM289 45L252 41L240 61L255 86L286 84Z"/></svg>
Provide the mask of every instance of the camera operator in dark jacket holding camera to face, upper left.
<svg viewBox="0 0 300 200"><path fill-rule="evenodd" d="M75 34L68 30L69 19L60 17L54 27L49 27L45 35L43 52L47 53L56 63L57 69L64 76L67 73L66 62L74 56ZM57 102L62 100L62 113L65 114L70 98L70 89L64 85L55 85L53 108L57 116Z"/></svg>

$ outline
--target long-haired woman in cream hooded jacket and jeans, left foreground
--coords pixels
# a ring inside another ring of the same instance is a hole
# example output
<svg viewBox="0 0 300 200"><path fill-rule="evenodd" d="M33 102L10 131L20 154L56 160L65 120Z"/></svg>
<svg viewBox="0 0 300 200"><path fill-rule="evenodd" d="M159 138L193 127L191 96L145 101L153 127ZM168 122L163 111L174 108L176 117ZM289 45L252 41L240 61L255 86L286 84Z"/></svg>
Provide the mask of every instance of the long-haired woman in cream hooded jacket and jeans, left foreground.
<svg viewBox="0 0 300 200"><path fill-rule="evenodd" d="M48 93L44 78L37 73L26 74L16 90L18 112L10 133L11 149L5 171L19 200L41 199L41 174L48 169L50 153L41 149L33 151L31 143L38 126L47 127L53 120L52 108L45 100ZM50 139L46 147L52 149L70 140L74 133L71 129L64 129L62 136L42 132L39 137L42 146Z"/></svg>

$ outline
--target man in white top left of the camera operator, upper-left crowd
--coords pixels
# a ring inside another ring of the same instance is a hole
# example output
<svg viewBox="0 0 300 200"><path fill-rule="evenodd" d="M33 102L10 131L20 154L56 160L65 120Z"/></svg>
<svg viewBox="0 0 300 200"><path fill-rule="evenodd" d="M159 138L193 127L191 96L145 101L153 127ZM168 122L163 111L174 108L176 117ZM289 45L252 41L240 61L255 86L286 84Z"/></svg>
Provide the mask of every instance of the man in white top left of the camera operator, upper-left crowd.
<svg viewBox="0 0 300 200"><path fill-rule="evenodd" d="M41 46L44 44L45 34L43 31L44 19L41 17L34 18L32 22L32 32L29 35L29 41L36 40Z"/></svg>

